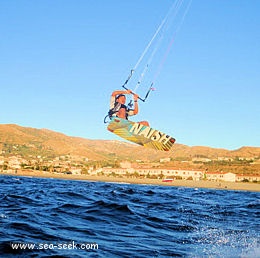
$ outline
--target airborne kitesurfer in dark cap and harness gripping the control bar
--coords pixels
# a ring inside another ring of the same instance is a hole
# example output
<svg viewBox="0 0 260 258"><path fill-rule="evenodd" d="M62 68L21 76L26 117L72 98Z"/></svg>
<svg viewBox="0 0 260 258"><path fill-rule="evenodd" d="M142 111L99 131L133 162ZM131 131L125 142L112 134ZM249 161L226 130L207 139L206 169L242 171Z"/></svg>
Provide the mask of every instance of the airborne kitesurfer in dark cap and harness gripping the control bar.
<svg viewBox="0 0 260 258"><path fill-rule="evenodd" d="M134 98L134 109L128 108L126 103L125 94L132 94ZM111 94L110 98L110 116L117 116L119 118L128 119L128 116L137 115L139 112L138 109L138 95L133 93L131 90L116 90ZM147 121L138 122L142 125L149 126Z"/></svg>

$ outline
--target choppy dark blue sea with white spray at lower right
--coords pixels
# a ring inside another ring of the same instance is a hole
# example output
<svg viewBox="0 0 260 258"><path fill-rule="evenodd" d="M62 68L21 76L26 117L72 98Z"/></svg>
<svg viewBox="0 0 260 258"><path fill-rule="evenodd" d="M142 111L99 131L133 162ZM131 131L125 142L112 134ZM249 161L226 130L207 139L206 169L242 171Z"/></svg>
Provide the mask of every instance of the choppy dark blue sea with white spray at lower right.
<svg viewBox="0 0 260 258"><path fill-rule="evenodd" d="M260 257L260 193L0 176L0 257Z"/></svg>

